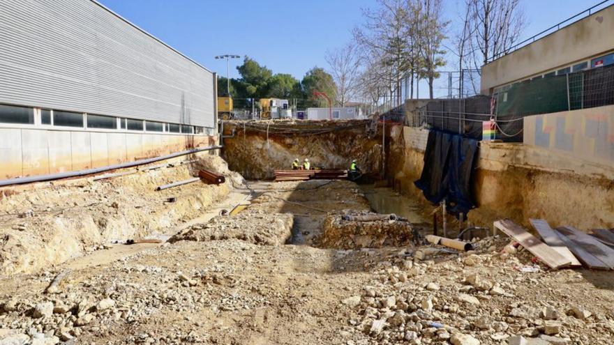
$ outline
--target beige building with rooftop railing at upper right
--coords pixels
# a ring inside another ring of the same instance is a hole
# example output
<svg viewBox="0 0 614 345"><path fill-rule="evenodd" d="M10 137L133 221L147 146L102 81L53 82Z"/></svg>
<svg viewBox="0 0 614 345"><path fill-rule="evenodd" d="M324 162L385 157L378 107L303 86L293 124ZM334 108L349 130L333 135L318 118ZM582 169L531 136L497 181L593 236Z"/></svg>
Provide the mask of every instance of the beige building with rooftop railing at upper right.
<svg viewBox="0 0 614 345"><path fill-rule="evenodd" d="M614 5L539 38L481 68L481 93L527 79L614 64Z"/></svg>

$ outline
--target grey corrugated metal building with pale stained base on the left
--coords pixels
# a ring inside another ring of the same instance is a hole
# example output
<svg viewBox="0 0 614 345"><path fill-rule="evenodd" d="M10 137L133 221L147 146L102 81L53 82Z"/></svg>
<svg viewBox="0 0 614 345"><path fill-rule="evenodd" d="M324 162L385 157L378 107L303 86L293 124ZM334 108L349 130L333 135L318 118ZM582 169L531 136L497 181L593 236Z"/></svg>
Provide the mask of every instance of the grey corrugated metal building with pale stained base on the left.
<svg viewBox="0 0 614 345"><path fill-rule="evenodd" d="M1 178L210 143L216 75L94 0L0 1Z"/></svg>

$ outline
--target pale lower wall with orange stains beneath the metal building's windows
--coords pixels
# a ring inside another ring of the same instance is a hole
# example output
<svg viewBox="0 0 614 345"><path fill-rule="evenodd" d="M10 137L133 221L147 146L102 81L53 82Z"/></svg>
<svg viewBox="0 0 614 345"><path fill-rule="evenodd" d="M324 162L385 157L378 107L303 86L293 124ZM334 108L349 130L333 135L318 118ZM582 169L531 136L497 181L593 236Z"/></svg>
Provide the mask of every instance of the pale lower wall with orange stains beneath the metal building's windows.
<svg viewBox="0 0 614 345"><path fill-rule="evenodd" d="M0 128L0 180L105 167L216 142L208 135Z"/></svg>

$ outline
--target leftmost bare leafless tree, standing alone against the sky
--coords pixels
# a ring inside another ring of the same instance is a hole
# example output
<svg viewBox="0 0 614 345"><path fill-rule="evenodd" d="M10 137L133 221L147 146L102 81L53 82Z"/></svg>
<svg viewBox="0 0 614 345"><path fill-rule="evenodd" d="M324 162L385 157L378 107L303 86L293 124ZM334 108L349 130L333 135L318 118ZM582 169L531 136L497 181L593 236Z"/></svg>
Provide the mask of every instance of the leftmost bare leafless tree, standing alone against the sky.
<svg viewBox="0 0 614 345"><path fill-rule="evenodd" d="M356 92L361 67L361 54L354 43L347 43L324 56L337 86L336 102L341 107Z"/></svg>

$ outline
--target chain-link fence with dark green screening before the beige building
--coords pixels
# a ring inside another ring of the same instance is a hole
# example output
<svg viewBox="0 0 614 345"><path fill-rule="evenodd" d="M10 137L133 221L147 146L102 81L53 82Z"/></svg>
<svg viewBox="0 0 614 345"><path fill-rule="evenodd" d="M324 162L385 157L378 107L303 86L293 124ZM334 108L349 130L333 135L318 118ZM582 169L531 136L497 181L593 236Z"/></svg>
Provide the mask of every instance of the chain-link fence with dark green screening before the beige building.
<svg viewBox="0 0 614 345"><path fill-rule="evenodd" d="M480 139L484 122L495 121L495 139L523 141L523 118L614 105L614 66L539 77L505 86L491 97L433 100L405 119Z"/></svg>

